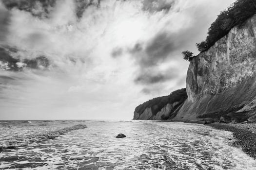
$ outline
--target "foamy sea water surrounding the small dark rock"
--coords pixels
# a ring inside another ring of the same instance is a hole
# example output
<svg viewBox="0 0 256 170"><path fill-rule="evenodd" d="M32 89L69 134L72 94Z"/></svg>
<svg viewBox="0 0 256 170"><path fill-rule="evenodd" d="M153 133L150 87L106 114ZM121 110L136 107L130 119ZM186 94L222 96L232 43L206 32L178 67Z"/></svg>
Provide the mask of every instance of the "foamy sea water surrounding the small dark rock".
<svg viewBox="0 0 256 170"><path fill-rule="evenodd" d="M183 122L2 120L0 170L256 170L234 140Z"/></svg>

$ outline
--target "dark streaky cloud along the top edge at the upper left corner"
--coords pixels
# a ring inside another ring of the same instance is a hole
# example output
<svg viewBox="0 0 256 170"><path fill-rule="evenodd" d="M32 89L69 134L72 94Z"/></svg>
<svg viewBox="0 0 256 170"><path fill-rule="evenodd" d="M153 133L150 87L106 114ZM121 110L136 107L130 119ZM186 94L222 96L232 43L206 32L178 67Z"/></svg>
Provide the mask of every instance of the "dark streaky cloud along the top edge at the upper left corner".
<svg viewBox="0 0 256 170"><path fill-rule="evenodd" d="M27 11L33 16L48 17L56 0L2 0L2 3L7 9L16 8Z"/></svg>

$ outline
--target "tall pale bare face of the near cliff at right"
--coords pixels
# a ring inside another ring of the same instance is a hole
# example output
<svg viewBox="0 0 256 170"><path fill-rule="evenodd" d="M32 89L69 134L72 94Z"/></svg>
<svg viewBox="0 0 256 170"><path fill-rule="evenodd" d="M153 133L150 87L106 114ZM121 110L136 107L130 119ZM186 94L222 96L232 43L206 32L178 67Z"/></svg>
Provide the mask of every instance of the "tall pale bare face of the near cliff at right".
<svg viewBox="0 0 256 170"><path fill-rule="evenodd" d="M256 15L233 28L188 68L188 99L174 120L244 121L256 110Z"/></svg>

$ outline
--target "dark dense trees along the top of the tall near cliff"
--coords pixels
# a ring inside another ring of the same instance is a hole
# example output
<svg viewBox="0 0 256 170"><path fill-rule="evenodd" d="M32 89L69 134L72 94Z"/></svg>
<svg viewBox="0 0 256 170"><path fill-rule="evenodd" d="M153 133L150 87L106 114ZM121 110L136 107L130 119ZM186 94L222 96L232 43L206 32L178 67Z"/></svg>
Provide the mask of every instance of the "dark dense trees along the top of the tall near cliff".
<svg viewBox="0 0 256 170"><path fill-rule="evenodd" d="M228 34L233 27L241 26L254 14L256 14L256 0L237 0L218 15L208 29L206 40L197 43L198 51L208 50L217 40Z"/></svg>

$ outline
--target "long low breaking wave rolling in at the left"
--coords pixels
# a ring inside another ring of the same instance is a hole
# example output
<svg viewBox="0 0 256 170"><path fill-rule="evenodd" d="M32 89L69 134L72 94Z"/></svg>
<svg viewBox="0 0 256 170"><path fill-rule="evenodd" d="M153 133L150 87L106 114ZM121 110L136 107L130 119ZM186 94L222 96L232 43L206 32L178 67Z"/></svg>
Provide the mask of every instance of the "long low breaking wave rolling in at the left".
<svg viewBox="0 0 256 170"><path fill-rule="evenodd" d="M42 140L50 140L54 139L60 135L64 135L69 131L78 130L78 129L85 129L87 128L86 125L78 124L71 127L59 129L56 131L48 131L40 134L33 134L23 137L15 137L12 139L7 139L0 141L0 151L4 149L14 149L20 146L26 146L28 144L31 144L33 142L39 142Z"/></svg>

